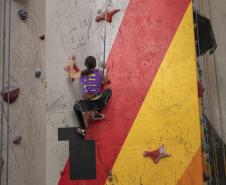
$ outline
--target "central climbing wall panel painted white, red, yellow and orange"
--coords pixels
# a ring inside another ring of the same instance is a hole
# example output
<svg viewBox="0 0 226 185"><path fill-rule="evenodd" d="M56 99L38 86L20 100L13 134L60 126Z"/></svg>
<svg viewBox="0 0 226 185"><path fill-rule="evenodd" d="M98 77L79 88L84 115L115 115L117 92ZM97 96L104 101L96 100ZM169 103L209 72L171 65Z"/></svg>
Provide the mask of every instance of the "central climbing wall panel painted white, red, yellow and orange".
<svg viewBox="0 0 226 185"><path fill-rule="evenodd" d="M47 11L48 103L55 104L48 110L47 184L203 184L191 1L111 1L109 11L120 9L106 23L113 94L105 120L90 124L85 140L73 128L78 84L62 68L72 53L80 69L86 56L101 62L105 23L95 18L105 4L48 7L55 8Z"/></svg>

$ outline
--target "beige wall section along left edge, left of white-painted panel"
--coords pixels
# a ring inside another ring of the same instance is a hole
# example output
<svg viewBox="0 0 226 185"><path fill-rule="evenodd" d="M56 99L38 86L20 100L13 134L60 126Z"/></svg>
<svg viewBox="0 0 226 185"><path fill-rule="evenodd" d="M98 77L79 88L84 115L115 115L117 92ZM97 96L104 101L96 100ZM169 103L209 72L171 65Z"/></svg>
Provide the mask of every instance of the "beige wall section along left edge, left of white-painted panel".
<svg viewBox="0 0 226 185"><path fill-rule="evenodd" d="M9 1L7 1L9 2ZM3 1L0 1L0 6ZM19 9L28 11L28 19L20 20ZM1 31L4 29L4 6L0 7ZM4 116L3 154L5 159L2 175L3 185L44 185L45 184L45 127L46 127L46 94L45 94L45 42L39 35L45 31L45 1L11 1L11 11L5 14L11 19L11 32L6 30L6 37L10 37L10 85L20 88L18 99L9 105L9 153L8 153L8 183L7 171L7 121ZM2 32L0 43L2 46ZM1 52L2 52L2 47ZM0 54L2 57L2 53ZM2 67L2 60L1 67ZM8 65L8 63L6 64ZM42 76L34 77L36 70L41 70ZM7 73L6 73L7 75ZM2 70L0 71L2 78ZM2 81L1 81L2 86ZM5 108L6 103L5 104ZM5 109L6 111L7 109ZM13 139L21 136L19 145L13 144Z"/></svg>

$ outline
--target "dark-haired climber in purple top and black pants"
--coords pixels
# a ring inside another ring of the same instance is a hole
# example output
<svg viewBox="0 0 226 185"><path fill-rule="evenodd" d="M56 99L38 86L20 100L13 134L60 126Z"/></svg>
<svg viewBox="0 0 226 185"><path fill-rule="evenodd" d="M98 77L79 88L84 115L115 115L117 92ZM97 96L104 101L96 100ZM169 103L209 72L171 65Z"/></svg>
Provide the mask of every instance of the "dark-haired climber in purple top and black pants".
<svg viewBox="0 0 226 185"><path fill-rule="evenodd" d="M82 100L76 101L74 111L79 120L80 128L77 132L85 135L89 121L103 120L104 114L101 111L111 97L111 89L104 89L103 85L110 83L107 78L108 69L100 70L96 68L96 59L89 56L85 59L87 69L81 72L80 86ZM106 71L106 74L104 74Z"/></svg>

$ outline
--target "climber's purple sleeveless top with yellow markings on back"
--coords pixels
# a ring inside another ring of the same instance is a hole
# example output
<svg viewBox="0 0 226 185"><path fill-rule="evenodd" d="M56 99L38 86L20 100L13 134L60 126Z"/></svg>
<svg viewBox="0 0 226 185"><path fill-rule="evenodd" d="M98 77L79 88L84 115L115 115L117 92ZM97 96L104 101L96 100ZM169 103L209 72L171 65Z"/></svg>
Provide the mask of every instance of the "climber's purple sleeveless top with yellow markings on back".
<svg viewBox="0 0 226 185"><path fill-rule="evenodd" d="M80 77L80 85L82 95L84 94L100 94L101 82L102 82L102 71L94 69L93 73L88 76Z"/></svg>

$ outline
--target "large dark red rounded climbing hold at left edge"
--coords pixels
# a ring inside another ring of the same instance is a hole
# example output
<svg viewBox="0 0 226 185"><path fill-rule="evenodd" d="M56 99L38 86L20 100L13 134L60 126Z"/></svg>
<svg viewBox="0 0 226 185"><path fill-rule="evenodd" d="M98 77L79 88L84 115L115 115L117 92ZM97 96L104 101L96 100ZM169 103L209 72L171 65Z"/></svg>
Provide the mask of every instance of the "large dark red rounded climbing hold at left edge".
<svg viewBox="0 0 226 185"><path fill-rule="evenodd" d="M19 96L20 88L7 86L1 91L1 96L3 97L5 102L9 104L16 101L17 97Z"/></svg>

